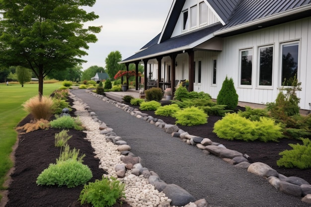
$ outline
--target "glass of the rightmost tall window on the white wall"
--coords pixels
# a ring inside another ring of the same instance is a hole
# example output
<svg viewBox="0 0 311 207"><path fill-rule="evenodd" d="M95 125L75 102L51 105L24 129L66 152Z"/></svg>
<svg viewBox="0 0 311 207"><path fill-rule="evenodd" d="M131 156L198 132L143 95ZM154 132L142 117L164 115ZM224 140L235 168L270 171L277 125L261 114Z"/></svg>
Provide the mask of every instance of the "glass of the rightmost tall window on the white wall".
<svg viewBox="0 0 311 207"><path fill-rule="evenodd" d="M282 85L292 85L298 72L299 44L282 44Z"/></svg>

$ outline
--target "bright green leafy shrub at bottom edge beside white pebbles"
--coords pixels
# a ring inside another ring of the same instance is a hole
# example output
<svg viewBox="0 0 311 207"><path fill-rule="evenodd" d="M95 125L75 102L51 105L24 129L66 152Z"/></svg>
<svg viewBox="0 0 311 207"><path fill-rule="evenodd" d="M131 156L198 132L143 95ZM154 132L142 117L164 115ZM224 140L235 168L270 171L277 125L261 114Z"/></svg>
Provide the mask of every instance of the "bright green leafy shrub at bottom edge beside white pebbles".
<svg viewBox="0 0 311 207"><path fill-rule="evenodd" d="M116 178L103 176L101 180L84 185L79 201L81 205L87 203L93 207L112 207L117 200L126 198L124 188L125 184L120 183Z"/></svg>

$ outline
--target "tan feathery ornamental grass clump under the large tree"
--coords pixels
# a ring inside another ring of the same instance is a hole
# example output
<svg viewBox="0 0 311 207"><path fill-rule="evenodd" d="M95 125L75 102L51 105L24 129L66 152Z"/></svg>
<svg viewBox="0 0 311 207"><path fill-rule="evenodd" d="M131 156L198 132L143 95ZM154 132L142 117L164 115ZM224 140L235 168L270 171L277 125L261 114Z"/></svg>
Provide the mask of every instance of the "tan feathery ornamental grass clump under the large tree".
<svg viewBox="0 0 311 207"><path fill-rule="evenodd" d="M53 115L53 100L51 97L42 96L40 100L37 95L27 100L22 106L36 120L50 120Z"/></svg>

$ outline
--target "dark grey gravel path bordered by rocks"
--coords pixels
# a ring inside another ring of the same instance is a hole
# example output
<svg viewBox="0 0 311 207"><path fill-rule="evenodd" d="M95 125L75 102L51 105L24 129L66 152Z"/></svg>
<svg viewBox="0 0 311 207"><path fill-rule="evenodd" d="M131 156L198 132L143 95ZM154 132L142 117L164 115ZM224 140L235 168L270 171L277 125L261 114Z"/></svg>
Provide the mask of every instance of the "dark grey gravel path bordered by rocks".
<svg viewBox="0 0 311 207"><path fill-rule="evenodd" d="M137 119L129 113L78 89L71 91L131 147L143 166L167 184L176 184L210 207L310 207L301 198L283 194L265 179L236 169L213 155Z"/></svg>

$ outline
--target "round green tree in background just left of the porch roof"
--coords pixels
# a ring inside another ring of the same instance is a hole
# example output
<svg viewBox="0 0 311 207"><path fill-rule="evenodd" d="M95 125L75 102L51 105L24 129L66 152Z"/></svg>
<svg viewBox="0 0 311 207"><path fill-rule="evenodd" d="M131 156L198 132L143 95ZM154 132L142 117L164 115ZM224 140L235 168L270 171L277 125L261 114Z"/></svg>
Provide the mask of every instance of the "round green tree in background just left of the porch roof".
<svg viewBox="0 0 311 207"><path fill-rule="evenodd" d="M109 77L112 78L119 70L125 69L124 65L118 64L120 61L122 61L122 55L119 51L109 53L105 59L106 72L108 73Z"/></svg>

